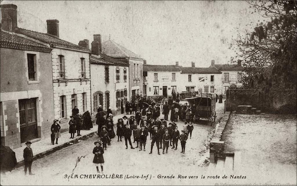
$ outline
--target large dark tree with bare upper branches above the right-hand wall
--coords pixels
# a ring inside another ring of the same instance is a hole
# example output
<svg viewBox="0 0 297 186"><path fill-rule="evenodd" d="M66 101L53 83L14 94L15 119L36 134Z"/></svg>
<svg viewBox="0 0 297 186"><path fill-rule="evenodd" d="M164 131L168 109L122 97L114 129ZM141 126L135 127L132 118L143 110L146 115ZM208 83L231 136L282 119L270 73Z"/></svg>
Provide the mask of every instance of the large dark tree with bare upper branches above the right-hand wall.
<svg viewBox="0 0 297 186"><path fill-rule="evenodd" d="M231 48L239 50L247 76L245 87L258 89L271 104L293 105L296 109L297 85L297 2L247 1L253 13L269 21L257 23L252 32L238 34Z"/></svg>

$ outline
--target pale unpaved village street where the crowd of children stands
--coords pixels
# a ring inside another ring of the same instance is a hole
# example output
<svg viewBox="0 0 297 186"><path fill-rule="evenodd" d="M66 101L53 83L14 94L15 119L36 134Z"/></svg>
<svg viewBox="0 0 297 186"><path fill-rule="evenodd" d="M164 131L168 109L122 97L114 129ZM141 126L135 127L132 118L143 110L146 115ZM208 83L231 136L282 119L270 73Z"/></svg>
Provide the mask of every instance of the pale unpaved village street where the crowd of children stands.
<svg viewBox="0 0 297 186"><path fill-rule="evenodd" d="M224 104L217 103L217 119L219 122L223 115ZM163 115L161 115L161 118ZM115 119L117 117L115 116ZM169 122L169 121L168 121ZM183 122L178 121L178 130L181 131ZM206 143L208 133L215 125L210 126L206 121L200 120L199 124L194 124L192 139L187 140L186 153L182 154L180 142L178 149L173 150L169 147L168 154L157 154L156 146L154 146L153 154L149 154L151 140L148 137L146 151L139 151L139 148L125 149L125 142L117 142L112 139L112 145L108 146L104 152L104 174L129 174L129 175L147 175L151 174L152 178L148 181L141 179L133 179L134 185L179 185L186 181L187 185L196 185L201 179L178 179L178 174L199 176L204 174L207 167L203 165L204 155L208 153L204 143ZM97 127L97 126L94 126ZM115 128L116 129L116 128ZM133 137L131 137L133 138ZM83 185L86 179L65 179L65 175L72 174L78 157L85 156L80 159L74 170L74 175L78 174L97 174L96 167L92 163L94 155L92 150L94 141L98 140L98 136L94 135L82 142L71 145L64 149L58 150L41 159L37 159L32 164L32 172L35 174L30 177L24 176L23 166L7 173L6 177L1 177L3 185ZM132 141L133 142L133 141ZM133 143L136 146L136 142ZM32 144L34 150L34 144ZM208 155L207 155L208 156ZM206 156L206 157L207 157ZM157 179L157 176L170 176L173 174L175 179ZM67 177L66 176L66 177ZM155 177L155 178L153 178ZM212 183L211 180L206 180ZM202 182L201 182L202 183ZM124 179L88 179L90 185L125 185ZM214 183L213 183L214 184Z"/></svg>

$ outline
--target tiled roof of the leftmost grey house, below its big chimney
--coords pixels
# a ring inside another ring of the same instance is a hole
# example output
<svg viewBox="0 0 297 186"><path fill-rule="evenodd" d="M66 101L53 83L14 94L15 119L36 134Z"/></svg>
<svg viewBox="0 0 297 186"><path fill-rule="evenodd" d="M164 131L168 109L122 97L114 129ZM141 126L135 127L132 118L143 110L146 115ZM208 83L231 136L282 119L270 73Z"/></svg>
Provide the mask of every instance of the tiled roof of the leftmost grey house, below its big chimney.
<svg viewBox="0 0 297 186"><path fill-rule="evenodd" d="M1 30L0 46L3 48L12 48L18 50L36 51L50 53L51 48L43 44L34 42L30 39L10 34Z"/></svg>

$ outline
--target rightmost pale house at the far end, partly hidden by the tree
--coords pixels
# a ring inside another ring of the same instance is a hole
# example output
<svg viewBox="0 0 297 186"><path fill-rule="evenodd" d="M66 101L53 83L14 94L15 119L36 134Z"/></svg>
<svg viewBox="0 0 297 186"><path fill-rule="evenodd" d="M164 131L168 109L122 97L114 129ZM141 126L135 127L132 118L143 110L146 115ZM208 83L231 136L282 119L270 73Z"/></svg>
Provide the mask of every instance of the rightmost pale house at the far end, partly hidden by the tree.
<svg viewBox="0 0 297 186"><path fill-rule="evenodd" d="M243 76L243 66L241 66L241 61L237 64L215 64L214 60L211 60L210 68L216 68L222 72L221 76L221 92L223 96L226 96L226 91L232 85L235 87L241 87L241 79Z"/></svg>

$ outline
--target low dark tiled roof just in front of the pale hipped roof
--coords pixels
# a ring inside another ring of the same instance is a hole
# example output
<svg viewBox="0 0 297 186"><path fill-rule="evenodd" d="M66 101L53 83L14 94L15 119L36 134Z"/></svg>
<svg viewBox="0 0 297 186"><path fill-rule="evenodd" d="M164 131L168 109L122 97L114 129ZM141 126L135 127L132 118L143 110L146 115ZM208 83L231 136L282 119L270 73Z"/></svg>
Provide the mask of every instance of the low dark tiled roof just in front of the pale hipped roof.
<svg viewBox="0 0 297 186"><path fill-rule="evenodd" d="M104 55L104 54L100 54L100 57L95 57L91 55L90 63L97 64L97 65L129 66L129 64L127 63L108 57L107 55Z"/></svg>

